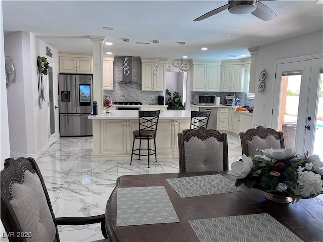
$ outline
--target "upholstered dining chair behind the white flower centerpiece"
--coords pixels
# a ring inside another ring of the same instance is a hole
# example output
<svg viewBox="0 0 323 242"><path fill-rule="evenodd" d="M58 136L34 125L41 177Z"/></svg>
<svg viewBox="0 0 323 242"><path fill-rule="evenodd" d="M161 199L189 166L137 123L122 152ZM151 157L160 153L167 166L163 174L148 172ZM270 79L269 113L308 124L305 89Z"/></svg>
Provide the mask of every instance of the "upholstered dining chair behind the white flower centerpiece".
<svg viewBox="0 0 323 242"><path fill-rule="evenodd" d="M285 148L283 133L271 128L258 126L245 133L239 133L242 154L246 156L261 155L258 150Z"/></svg>

